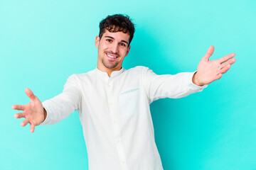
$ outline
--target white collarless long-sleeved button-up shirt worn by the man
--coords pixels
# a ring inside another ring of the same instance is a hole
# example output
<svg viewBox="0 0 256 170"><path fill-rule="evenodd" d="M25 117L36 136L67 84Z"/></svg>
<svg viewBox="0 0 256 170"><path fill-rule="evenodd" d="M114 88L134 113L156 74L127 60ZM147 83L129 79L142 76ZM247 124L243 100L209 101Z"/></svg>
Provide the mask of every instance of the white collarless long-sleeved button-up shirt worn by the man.
<svg viewBox="0 0 256 170"><path fill-rule="evenodd" d="M206 86L192 82L194 72L156 75L147 67L106 72L93 69L68 78L63 93L43 102L41 125L79 112L90 170L161 170L149 104L181 98Z"/></svg>

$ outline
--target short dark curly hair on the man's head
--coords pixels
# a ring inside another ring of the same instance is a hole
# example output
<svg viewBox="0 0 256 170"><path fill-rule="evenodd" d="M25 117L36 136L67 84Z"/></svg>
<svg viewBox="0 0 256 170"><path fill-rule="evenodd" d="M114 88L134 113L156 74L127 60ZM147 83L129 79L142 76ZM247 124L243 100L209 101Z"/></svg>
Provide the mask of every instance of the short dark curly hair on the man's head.
<svg viewBox="0 0 256 170"><path fill-rule="evenodd" d="M112 16L107 16L107 18L100 21L100 39L105 33L105 30L110 31L110 33L116 33L122 31L123 33L129 33L129 44L132 42L132 38L135 32L134 23L127 15L115 14Z"/></svg>

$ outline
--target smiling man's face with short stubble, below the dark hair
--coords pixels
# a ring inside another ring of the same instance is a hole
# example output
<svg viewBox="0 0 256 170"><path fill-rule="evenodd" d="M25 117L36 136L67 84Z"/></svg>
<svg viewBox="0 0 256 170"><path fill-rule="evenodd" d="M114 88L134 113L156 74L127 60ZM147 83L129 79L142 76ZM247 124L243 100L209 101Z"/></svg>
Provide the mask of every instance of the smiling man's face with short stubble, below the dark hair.
<svg viewBox="0 0 256 170"><path fill-rule="evenodd" d="M129 53L129 34L122 31L110 33L105 30L102 38L95 39L98 48L97 68L102 71L117 71L122 68L124 57Z"/></svg>

